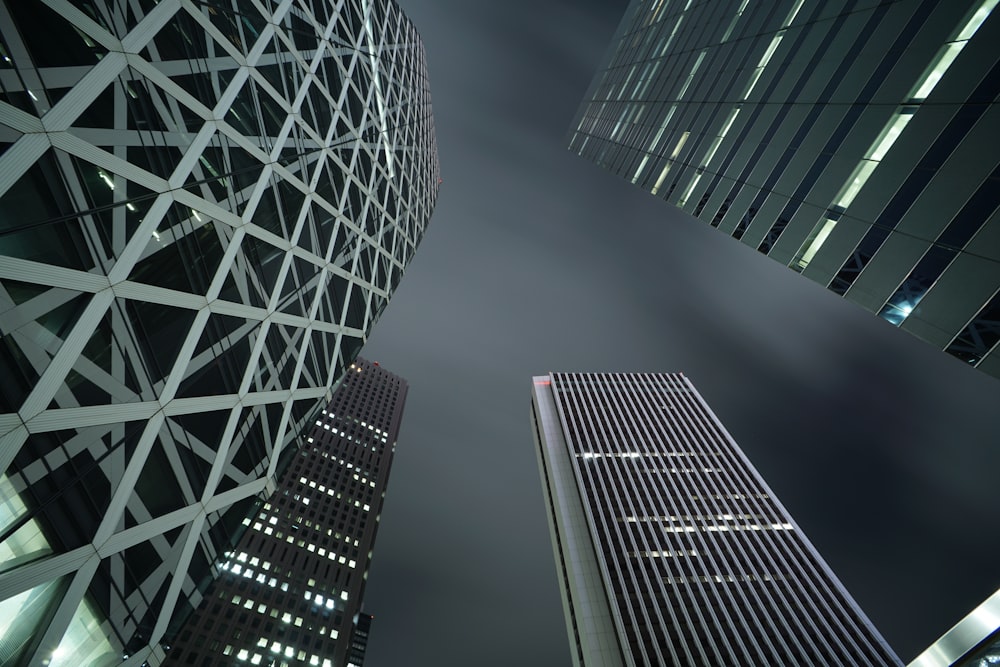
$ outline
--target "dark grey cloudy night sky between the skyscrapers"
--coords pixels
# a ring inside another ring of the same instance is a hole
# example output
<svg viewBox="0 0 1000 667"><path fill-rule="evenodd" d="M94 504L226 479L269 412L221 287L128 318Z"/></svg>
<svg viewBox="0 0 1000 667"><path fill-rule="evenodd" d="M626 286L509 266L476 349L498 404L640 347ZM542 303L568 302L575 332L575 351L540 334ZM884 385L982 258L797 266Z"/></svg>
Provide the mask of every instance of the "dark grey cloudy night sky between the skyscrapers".
<svg viewBox="0 0 1000 667"><path fill-rule="evenodd" d="M531 376L680 371L904 661L1000 587L1000 381L566 150L625 0L400 0L437 210L363 355L410 382L368 667L571 664Z"/></svg>

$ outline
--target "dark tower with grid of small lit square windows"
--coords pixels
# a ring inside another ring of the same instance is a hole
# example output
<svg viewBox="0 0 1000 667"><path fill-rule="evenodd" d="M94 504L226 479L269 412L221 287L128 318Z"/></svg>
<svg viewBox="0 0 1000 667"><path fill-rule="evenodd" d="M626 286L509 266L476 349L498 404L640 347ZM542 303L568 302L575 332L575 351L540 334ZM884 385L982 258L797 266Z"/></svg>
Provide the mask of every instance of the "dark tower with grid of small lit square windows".
<svg viewBox="0 0 1000 667"><path fill-rule="evenodd" d="M166 664L348 664L406 391L378 364L348 368Z"/></svg>

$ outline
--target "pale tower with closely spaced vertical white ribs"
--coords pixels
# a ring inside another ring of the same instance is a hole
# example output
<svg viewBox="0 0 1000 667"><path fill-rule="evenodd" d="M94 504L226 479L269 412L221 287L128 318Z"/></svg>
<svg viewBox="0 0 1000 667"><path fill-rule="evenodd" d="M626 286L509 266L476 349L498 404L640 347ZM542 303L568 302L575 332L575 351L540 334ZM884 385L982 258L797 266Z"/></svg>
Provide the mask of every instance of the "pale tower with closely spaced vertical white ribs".
<svg viewBox="0 0 1000 667"><path fill-rule="evenodd" d="M678 373L534 378L573 664L900 665Z"/></svg>

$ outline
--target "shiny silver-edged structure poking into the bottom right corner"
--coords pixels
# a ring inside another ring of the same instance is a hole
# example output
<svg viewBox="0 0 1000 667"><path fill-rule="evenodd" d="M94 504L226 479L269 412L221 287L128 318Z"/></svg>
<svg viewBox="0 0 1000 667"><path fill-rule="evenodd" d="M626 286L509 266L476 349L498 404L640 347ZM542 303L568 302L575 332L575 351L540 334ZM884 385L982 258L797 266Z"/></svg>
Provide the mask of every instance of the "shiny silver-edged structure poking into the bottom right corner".
<svg viewBox="0 0 1000 667"><path fill-rule="evenodd" d="M1000 663L1000 591L927 647L909 667L987 667Z"/></svg>

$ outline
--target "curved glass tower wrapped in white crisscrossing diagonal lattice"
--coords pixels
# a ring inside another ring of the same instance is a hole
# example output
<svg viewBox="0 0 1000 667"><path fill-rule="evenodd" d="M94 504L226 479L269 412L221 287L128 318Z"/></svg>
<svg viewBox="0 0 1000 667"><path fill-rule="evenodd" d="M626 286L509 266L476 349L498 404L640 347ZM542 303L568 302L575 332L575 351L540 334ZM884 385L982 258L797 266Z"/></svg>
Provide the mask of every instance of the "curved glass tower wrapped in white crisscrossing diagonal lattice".
<svg viewBox="0 0 1000 667"><path fill-rule="evenodd" d="M391 2L0 1L0 663L162 659L437 169Z"/></svg>

